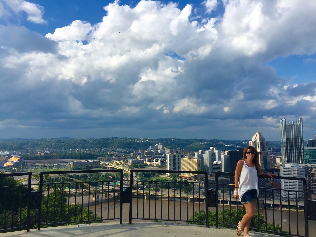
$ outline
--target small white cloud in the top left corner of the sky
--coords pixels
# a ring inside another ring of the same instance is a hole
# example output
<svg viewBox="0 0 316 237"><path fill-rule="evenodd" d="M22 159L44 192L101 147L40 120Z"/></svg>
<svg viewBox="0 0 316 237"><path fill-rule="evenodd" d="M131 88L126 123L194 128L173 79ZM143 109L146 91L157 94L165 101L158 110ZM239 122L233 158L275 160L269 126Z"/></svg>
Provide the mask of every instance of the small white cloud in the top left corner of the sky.
<svg viewBox="0 0 316 237"><path fill-rule="evenodd" d="M3 0L15 14L24 11L27 14L27 21L35 24L45 24L43 19L44 8L38 4L30 3L25 0ZM0 3L1 5L1 3ZM0 7L1 11L1 7ZM1 17L1 14L0 14Z"/></svg>

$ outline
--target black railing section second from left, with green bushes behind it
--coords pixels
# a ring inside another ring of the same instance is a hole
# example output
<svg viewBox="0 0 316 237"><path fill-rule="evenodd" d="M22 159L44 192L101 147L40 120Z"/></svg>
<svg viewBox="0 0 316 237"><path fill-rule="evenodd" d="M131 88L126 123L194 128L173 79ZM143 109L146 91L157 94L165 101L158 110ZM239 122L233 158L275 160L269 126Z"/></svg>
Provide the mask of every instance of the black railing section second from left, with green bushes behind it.
<svg viewBox="0 0 316 237"><path fill-rule="evenodd" d="M64 182L65 180L63 179L73 178L61 177L62 174L108 173L109 171L111 173L120 172L120 179L87 182L80 180L67 182L66 180ZM44 183L45 175L46 178L49 175L58 175L61 180L60 182L48 181ZM38 230L40 230L41 226L47 225L91 223L105 220L119 220L120 224L122 224L122 169L41 172L39 193ZM110 198L111 195L112 198Z"/></svg>

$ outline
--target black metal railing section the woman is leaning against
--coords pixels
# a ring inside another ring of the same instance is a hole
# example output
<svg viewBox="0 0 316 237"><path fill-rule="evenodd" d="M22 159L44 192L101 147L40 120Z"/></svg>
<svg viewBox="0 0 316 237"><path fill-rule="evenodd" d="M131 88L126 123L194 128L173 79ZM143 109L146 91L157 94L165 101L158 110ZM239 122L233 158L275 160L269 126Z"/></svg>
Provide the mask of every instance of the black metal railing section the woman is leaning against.
<svg viewBox="0 0 316 237"><path fill-rule="evenodd" d="M234 176L234 173L215 172L215 191L217 199L216 228L218 228L219 225L229 228L236 228L238 222L241 221L242 216L245 214L245 208L233 196L232 193L234 191L234 186L222 184L222 188L219 188L219 175ZM260 176L260 178L270 178L270 176L264 175ZM260 195L257 199L257 214L252 219L250 229L254 231L274 233L285 236L292 235L308 237L307 179L273 176L272 181L275 179L302 182L303 190L259 187ZM219 195L219 190L222 191L222 195ZM229 190L227 195L225 194L225 190ZM219 196L222 196L222 198ZM290 197L293 198L293 201L290 200ZM219 204L222 205L222 210L219 210ZM304 213L302 213L302 211ZM219 218L220 214L222 218ZM227 216L229 216L229 220ZM303 223L299 223L300 221L303 221ZM284 226L284 222L287 223L286 227Z"/></svg>

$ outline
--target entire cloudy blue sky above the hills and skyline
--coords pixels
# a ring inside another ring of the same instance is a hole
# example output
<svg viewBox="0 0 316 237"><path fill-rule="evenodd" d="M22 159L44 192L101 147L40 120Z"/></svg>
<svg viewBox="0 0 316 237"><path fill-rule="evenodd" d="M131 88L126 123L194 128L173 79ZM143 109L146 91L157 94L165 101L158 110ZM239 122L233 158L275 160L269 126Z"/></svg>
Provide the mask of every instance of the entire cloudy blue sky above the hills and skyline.
<svg viewBox="0 0 316 237"><path fill-rule="evenodd" d="M316 1L0 0L0 138L316 133Z"/></svg>

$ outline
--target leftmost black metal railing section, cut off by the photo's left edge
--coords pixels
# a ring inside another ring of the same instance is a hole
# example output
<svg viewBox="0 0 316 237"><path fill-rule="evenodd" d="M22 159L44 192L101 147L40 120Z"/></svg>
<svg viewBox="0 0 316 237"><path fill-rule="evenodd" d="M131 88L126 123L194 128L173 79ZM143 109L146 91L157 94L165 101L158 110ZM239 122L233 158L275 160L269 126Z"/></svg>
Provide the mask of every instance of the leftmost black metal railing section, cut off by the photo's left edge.
<svg viewBox="0 0 316 237"><path fill-rule="evenodd" d="M15 176L28 176L27 185L0 186L1 232L22 228L26 228L27 231L30 230L31 175L31 172L0 173L0 180L3 177L12 177L14 179ZM0 182L3 185L3 182ZM26 219L23 218L25 212Z"/></svg>

